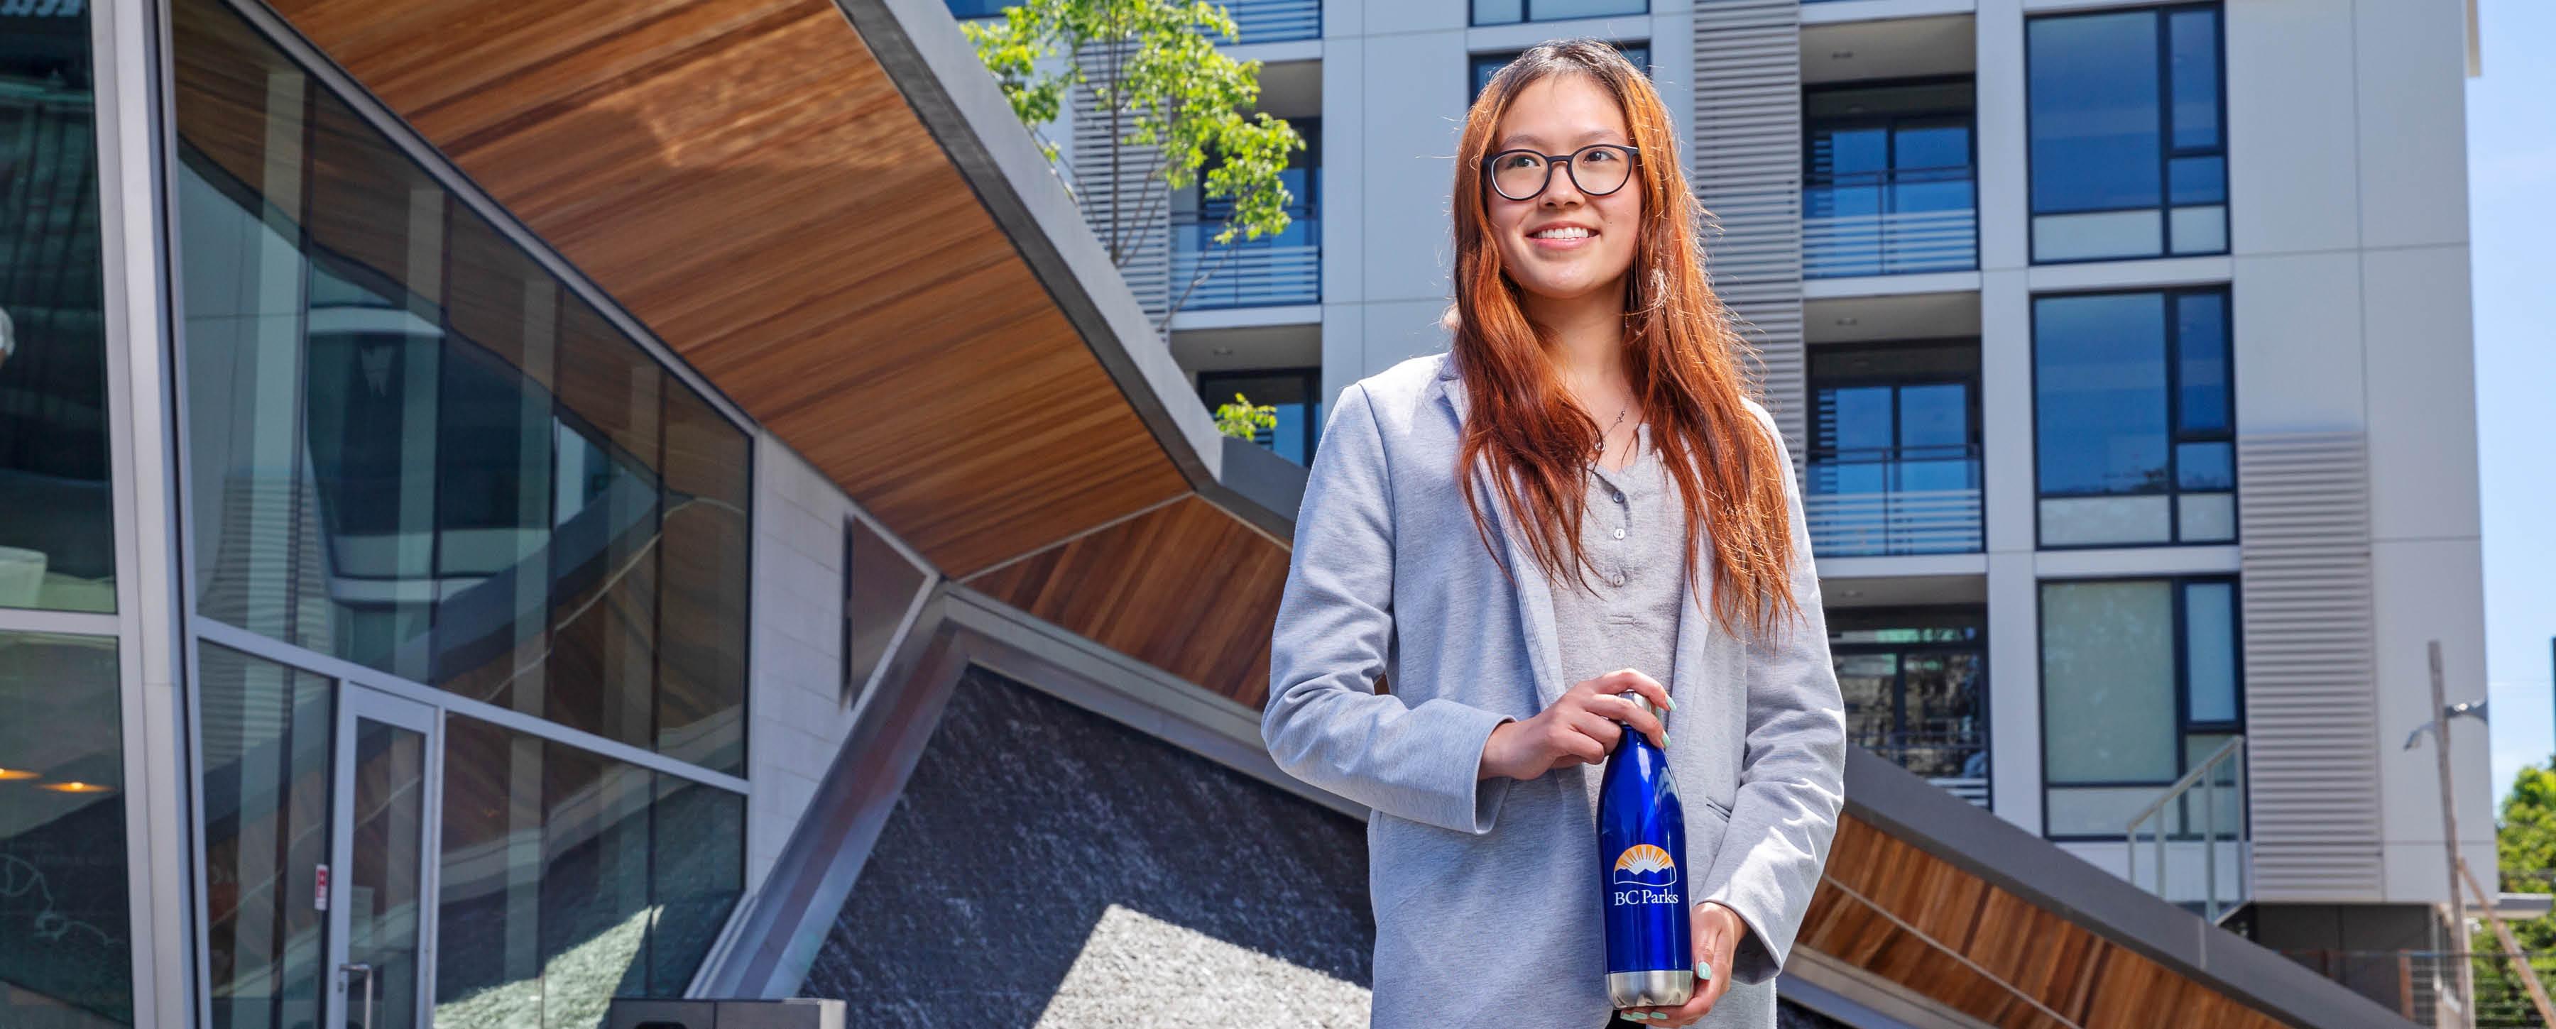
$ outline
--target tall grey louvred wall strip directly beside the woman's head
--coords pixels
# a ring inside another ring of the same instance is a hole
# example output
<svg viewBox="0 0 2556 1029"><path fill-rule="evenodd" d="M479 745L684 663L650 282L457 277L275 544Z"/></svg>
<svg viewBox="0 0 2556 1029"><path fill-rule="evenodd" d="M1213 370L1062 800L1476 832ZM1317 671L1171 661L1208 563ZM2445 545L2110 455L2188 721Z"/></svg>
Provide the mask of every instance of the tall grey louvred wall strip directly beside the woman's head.
<svg viewBox="0 0 2556 1029"><path fill-rule="evenodd" d="M1802 360L1802 0L1695 0L1695 143L1705 273L1794 465L1810 452Z"/></svg>

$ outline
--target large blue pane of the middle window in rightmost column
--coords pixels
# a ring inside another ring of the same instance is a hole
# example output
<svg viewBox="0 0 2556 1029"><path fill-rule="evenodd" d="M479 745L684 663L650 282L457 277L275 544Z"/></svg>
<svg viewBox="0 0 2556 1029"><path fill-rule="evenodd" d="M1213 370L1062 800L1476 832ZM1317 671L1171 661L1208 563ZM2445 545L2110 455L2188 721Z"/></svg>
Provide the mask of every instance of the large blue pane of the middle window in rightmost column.
<svg viewBox="0 0 2556 1029"><path fill-rule="evenodd" d="M2165 296L2032 301L2042 495L2165 490Z"/></svg>

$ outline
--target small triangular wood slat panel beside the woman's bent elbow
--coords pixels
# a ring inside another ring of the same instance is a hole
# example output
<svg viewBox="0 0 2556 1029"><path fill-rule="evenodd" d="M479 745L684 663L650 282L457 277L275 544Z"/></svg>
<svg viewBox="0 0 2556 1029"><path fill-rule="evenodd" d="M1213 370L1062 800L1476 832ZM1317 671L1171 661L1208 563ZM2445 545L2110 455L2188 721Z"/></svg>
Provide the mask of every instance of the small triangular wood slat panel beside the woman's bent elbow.
<svg viewBox="0 0 2556 1029"><path fill-rule="evenodd" d="M966 585L1258 710L1286 564L1286 546L1186 495Z"/></svg>

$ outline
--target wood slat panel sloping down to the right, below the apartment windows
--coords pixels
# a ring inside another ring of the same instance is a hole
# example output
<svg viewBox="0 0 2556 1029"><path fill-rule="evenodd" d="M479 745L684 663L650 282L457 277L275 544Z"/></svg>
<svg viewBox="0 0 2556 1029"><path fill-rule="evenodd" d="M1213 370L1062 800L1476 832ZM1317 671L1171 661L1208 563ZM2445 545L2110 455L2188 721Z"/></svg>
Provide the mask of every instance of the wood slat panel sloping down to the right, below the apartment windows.
<svg viewBox="0 0 2556 1029"><path fill-rule="evenodd" d="M2004 1029L2280 1026L1853 815L1794 945Z"/></svg>

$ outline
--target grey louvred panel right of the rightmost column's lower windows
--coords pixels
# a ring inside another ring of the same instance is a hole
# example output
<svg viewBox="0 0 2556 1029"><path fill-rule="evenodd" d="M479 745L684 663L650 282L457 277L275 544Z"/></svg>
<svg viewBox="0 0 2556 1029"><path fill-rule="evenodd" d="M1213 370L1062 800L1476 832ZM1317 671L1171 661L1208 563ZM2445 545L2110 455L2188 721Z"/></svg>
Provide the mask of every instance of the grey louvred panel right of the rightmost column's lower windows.
<svg viewBox="0 0 2556 1029"><path fill-rule="evenodd" d="M2254 896L2380 894L2369 447L2236 437Z"/></svg>

